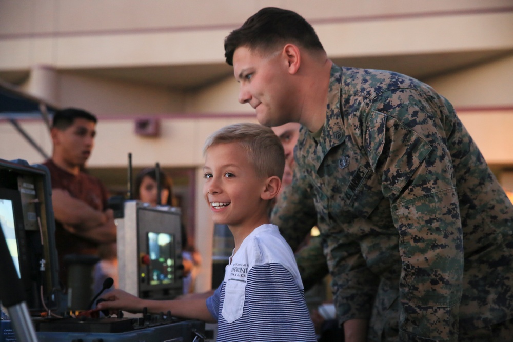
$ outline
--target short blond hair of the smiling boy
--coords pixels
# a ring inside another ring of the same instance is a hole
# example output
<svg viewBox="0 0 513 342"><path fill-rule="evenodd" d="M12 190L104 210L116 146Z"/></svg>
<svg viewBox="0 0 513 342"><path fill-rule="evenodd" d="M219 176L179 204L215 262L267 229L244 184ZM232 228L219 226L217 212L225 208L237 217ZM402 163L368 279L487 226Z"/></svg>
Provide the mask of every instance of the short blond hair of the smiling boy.
<svg viewBox="0 0 513 342"><path fill-rule="evenodd" d="M233 124L212 133L203 147L203 155L215 145L237 143L247 152L248 161L258 177L282 179L285 152L280 139L266 126L253 123Z"/></svg>

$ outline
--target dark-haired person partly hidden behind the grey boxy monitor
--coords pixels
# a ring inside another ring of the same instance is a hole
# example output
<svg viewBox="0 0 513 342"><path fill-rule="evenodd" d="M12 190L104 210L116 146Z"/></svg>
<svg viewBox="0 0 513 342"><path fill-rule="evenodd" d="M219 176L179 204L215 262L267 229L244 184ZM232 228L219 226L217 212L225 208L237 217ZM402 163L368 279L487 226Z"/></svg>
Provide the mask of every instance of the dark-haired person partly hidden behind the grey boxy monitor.
<svg viewBox="0 0 513 342"><path fill-rule="evenodd" d="M173 196L173 183L171 178L162 170L159 173L161 186L161 204L176 207ZM146 168L135 177L134 198L149 203L152 207L157 205L157 170ZM194 291L195 279L201 264L201 256L194 247L188 243L187 230L182 223L182 263L184 265L184 294Z"/></svg>

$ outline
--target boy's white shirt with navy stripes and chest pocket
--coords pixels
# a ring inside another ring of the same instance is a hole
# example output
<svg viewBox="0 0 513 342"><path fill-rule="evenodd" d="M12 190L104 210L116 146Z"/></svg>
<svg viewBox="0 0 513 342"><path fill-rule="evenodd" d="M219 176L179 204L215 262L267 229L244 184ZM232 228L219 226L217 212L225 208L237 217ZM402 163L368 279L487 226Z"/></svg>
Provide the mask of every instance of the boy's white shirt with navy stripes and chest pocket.
<svg viewBox="0 0 513 342"><path fill-rule="evenodd" d="M292 250L275 225L255 229L207 299L218 341L317 341Z"/></svg>

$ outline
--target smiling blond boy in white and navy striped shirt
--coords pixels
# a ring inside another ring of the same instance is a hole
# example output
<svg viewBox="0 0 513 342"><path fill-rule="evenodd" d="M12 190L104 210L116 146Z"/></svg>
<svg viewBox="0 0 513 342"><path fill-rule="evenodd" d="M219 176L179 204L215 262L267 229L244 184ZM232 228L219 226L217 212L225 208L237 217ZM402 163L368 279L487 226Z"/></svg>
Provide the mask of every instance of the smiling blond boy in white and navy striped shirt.
<svg viewBox="0 0 513 342"><path fill-rule="evenodd" d="M270 128L235 124L212 134L204 155L203 195L213 221L235 239L223 283L207 300L144 300L115 290L98 308L218 321L218 341L316 341L294 255L267 215L285 166L280 140Z"/></svg>

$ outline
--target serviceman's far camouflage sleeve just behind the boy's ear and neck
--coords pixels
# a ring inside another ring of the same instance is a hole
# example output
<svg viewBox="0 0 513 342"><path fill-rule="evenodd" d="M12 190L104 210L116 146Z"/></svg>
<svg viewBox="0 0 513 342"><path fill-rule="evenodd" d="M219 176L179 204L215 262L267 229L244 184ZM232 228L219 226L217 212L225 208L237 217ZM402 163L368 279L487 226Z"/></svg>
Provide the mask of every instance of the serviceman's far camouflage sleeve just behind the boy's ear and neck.
<svg viewBox="0 0 513 342"><path fill-rule="evenodd" d="M305 179L294 171L292 184L287 186L277 200L271 213L271 222L280 228L293 251L317 224L317 211L313 204L313 194Z"/></svg>

